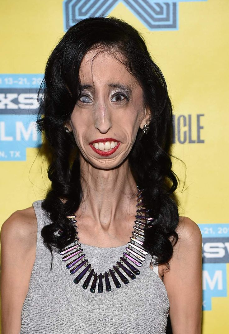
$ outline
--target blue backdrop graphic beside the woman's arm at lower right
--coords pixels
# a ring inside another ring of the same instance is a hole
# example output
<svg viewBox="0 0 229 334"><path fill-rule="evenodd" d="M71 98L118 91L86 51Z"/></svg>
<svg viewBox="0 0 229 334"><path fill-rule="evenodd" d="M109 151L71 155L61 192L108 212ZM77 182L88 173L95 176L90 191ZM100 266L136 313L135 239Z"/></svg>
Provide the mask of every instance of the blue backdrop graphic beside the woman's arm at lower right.
<svg viewBox="0 0 229 334"><path fill-rule="evenodd" d="M229 224L199 224L203 237L203 310L212 297L227 297Z"/></svg>

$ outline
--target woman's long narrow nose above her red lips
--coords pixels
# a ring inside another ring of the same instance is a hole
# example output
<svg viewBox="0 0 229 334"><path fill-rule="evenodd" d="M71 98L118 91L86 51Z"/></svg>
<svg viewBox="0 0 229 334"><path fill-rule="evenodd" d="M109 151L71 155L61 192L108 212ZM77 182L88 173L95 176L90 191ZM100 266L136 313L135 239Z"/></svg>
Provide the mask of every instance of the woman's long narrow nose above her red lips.
<svg viewBox="0 0 229 334"><path fill-rule="evenodd" d="M105 105L105 103L100 103L96 106L95 111L95 128L99 130L101 133L107 133L111 128L111 113L109 108Z"/></svg>

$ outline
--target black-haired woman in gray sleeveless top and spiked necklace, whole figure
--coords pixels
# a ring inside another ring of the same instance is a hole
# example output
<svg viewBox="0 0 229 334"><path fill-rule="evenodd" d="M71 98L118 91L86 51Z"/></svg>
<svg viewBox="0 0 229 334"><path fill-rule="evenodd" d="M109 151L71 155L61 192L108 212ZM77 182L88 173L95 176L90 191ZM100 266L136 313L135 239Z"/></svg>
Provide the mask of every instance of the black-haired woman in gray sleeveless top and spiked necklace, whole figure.
<svg viewBox="0 0 229 334"><path fill-rule="evenodd" d="M160 334L168 313L201 333L201 233L178 214L171 102L142 37L78 22L39 93L52 186L1 229L2 334Z"/></svg>

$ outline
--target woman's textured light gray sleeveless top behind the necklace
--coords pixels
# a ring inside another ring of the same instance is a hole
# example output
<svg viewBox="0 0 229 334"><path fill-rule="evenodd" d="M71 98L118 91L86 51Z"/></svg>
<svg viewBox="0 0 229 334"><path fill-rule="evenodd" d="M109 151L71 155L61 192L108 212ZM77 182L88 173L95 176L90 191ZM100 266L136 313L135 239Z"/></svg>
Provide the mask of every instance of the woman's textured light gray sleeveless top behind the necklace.
<svg viewBox="0 0 229 334"><path fill-rule="evenodd" d="M103 293L96 290L92 294L90 285L84 290L82 284L87 274L75 284L78 272L70 275L57 252L53 252L53 267L49 272L51 254L43 244L41 229L51 220L41 208L42 201L33 202L37 217L36 258L22 307L20 334L164 334L169 300L158 268L153 266L154 271L150 268L154 258L150 254L145 256L139 268L141 274L129 279L130 283L124 285L119 279L121 288L117 289L110 278L110 292L103 289ZM128 246L81 245L86 259L98 273L112 268Z"/></svg>

